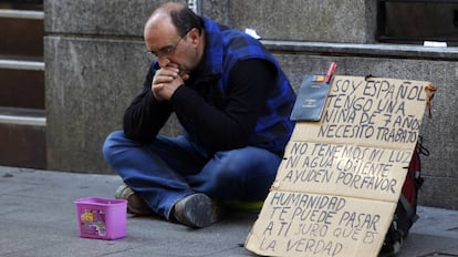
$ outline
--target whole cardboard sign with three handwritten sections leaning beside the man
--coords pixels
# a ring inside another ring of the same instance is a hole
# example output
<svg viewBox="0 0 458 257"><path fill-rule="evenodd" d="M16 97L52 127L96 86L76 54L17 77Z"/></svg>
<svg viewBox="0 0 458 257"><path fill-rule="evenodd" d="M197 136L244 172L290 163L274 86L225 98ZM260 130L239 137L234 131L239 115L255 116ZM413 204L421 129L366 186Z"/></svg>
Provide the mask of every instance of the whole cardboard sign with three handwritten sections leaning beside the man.
<svg viewBox="0 0 458 257"><path fill-rule="evenodd" d="M377 256L428 84L335 76L321 120L296 123L246 248L266 256Z"/></svg>

